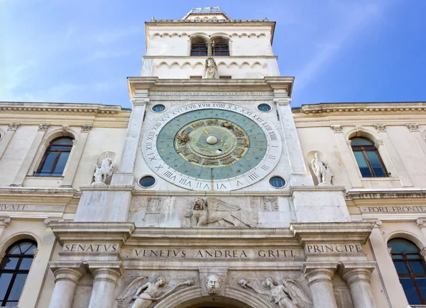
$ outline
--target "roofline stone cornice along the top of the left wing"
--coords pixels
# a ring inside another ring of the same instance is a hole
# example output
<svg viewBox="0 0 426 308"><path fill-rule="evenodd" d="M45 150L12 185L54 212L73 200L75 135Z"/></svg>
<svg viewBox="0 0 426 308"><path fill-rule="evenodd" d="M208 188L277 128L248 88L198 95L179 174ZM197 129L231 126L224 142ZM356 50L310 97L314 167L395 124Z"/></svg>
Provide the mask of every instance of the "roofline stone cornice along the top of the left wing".
<svg viewBox="0 0 426 308"><path fill-rule="evenodd" d="M109 106L102 104L58 104L2 101L0 102L0 111L119 114L126 110L121 109L121 106Z"/></svg>

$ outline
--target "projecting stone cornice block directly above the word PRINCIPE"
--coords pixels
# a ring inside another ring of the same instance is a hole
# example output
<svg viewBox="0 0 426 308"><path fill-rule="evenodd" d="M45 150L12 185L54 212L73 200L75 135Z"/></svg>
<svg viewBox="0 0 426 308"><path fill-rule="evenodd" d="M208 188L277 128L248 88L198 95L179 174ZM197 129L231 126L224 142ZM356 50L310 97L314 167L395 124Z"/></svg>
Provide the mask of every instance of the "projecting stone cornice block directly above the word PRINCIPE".
<svg viewBox="0 0 426 308"><path fill-rule="evenodd" d="M373 230L371 222L297 223L290 230L300 243L365 243Z"/></svg>

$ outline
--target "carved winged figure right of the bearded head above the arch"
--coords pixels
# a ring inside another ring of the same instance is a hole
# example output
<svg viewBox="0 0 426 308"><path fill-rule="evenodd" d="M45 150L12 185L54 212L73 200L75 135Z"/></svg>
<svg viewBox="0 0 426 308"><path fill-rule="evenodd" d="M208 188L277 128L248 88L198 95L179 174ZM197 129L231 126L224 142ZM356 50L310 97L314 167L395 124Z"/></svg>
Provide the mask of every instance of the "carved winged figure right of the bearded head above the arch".
<svg viewBox="0 0 426 308"><path fill-rule="evenodd" d="M279 283L272 277L262 282L266 290L258 289L244 278L239 279L238 284L244 289L252 289L260 295L267 295L271 302L278 304L280 308L313 308L312 301L295 280L285 279Z"/></svg>

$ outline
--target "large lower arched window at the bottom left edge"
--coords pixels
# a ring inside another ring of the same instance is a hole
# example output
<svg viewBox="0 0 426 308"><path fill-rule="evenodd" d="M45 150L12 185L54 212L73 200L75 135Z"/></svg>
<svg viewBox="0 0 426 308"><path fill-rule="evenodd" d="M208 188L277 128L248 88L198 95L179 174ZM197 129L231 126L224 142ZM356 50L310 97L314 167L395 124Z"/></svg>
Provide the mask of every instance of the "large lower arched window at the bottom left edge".
<svg viewBox="0 0 426 308"><path fill-rule="evenodd" d="M6 251L0 265L0 306L16 307L34 259L34 241L22 240Z"/></svg>

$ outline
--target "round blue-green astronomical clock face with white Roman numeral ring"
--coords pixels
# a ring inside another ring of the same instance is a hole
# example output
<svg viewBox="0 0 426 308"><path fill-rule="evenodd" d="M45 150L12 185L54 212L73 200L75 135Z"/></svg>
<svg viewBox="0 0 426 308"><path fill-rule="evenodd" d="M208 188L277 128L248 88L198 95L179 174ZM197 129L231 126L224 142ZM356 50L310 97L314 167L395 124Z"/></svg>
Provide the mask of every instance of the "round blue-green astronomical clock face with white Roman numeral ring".
<svg viewBox="0 0 426 308"><path fill-rule="evenodd" d="M261 114L232 104L192 104L158 119L144 137L142 153L168 182L223 191L266 177L278 163L281 143Z"/></svg>

